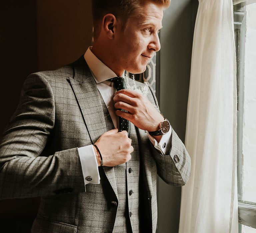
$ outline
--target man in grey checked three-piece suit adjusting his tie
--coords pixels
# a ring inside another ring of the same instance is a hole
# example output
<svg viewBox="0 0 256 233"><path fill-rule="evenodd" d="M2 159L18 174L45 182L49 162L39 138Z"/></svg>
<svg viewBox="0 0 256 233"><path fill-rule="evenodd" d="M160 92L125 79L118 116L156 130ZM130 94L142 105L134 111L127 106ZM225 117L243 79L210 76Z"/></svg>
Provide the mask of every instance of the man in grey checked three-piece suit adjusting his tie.
<svg viewBox="0 0 256 233"><path fill-rule="evenodd" d="M119 87L160 50L168 5L94 0L93 47L26 79L1 140L0 198L41 196L32 232L155 232L156 174L187 182L190 157L153 93Z"/></svg>

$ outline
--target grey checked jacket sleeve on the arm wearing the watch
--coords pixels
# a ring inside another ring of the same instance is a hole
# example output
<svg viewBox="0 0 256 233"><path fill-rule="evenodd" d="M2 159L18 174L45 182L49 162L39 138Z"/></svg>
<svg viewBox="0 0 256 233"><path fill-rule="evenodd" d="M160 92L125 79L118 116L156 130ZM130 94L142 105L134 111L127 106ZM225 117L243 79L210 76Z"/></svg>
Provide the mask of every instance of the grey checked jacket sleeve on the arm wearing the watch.
<svg viewBox="0 0 256 233"><path fill-rule="evenodd" d="M150 88L150 87L149 87ZM152 104L158 107L156 96L150 88L152 95L148 96ZM153 97L153 98L152 98ZM157 165L157 174L167 183L174 186L185 185L190 177L191 159L176 132L172 129L171 149L169 154L162 155L151 144L151 152Z"/></svg>

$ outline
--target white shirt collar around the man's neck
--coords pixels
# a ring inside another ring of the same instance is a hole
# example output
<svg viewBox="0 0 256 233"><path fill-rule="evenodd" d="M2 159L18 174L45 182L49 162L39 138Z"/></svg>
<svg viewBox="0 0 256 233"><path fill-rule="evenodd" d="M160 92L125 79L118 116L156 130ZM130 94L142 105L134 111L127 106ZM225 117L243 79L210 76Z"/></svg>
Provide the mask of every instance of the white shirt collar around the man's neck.
<svg viewBox="0 0 256 233"><path fill-rule="evenodd" d="M117 77L117 75L108 68L103 62L101 62L91 51L92 46L90 46L84 54L84 59L88 64L93 78L96 83L101 83L105 80ZM121 75L124 78L124 72Z"/></svg>

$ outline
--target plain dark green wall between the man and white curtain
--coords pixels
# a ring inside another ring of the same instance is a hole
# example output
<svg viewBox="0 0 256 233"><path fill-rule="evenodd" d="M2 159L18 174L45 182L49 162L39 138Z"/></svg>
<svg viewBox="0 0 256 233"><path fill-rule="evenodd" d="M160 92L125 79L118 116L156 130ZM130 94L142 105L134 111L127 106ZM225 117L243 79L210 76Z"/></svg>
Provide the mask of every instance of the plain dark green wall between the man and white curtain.
<svg viewBox="0 0 256 233"><path fill-rule="evenodd" d="M159 104L184 142L197 0L172 0L164 12L159 51ZM158 180L158 233L177 233L181 187Z"/></svg>

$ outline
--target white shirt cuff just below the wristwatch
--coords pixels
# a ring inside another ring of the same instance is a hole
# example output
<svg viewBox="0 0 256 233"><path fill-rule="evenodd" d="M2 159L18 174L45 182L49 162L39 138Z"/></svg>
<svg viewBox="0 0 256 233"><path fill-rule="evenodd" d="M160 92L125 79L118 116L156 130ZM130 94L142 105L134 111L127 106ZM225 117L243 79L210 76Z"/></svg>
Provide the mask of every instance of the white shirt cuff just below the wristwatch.
<svg viewBox="0 0 256 233"><path fill-rule="evenodd" d="M148 138L151 141L151 143L153 144L153 146L159 151L160 154L162 155L168 155L169 151L171 149L172 146L172 140L171 140L171 136L172 136L172 127L170 127L170 130L168 133L162 135L159 143L157 142L157 140L151 136L148 131Z"/></svg>

